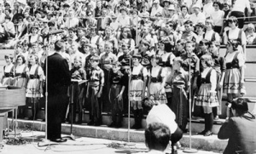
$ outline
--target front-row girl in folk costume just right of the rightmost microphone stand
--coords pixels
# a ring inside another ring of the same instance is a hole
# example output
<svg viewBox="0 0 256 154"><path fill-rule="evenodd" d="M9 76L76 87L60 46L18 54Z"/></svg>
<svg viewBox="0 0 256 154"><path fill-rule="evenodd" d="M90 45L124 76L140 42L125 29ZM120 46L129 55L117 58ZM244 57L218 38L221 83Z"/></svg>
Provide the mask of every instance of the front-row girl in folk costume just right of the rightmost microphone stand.
<svg viewBox="0 0 256 154"><path fill-rule="evenodd" d="M199 133L204 136L212 135L213 114L212 107L219 106L217 97L217 72L212 68L212 56L204 54L201 56L202 72L198 80L201 85L195 99L196 106L202 106L205 114L205 129ZM199 83L199 82L198 82Z"/></svg>

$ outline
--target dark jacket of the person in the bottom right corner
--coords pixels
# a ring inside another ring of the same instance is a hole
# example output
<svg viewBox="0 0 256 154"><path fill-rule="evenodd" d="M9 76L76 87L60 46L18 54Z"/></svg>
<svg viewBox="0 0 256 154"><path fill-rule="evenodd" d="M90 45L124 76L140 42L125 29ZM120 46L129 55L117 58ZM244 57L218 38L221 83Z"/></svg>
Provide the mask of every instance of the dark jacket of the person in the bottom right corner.
<svg viewBox="0 0 256 154"><path fill-rule="evenodd" d="M256 153L256 119L248 115L231 117L219 129L218 139L229 139L224 154Z"/></svg>

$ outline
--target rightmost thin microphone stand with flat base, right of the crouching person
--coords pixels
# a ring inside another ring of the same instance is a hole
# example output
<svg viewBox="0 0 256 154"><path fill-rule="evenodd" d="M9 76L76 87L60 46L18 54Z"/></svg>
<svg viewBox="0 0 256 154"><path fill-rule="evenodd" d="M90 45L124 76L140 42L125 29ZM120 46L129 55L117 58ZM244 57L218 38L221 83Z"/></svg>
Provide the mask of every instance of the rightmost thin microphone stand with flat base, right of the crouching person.
<svg viewBox="0 0 256 154"><path fill-rule="evenodd" d="M192 149L192 140L191 140L191 97L192 97L192 86L191 86L191 57L192 53L189 53L189 149L183 150L185 153L197 153L196 149Z"/></svg>

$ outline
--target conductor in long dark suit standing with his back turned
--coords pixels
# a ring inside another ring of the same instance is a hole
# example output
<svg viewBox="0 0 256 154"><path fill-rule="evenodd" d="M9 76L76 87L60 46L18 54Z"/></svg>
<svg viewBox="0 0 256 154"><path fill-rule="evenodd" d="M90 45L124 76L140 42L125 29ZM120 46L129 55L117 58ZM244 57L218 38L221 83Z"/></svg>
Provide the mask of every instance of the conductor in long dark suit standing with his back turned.
<svg viewBox="0 0 256 154"><path fill-rule="evenodd" d="M61 40L55 42L55 54L48 57L48 117L47 139L55 142L64 142L61 138L61 121L67 110L67 88L71 83L67 60L62 58L60 52L64 48ZM46 63L44 63L46 64ZM46 65L44 65L46 74Z"/></svg>

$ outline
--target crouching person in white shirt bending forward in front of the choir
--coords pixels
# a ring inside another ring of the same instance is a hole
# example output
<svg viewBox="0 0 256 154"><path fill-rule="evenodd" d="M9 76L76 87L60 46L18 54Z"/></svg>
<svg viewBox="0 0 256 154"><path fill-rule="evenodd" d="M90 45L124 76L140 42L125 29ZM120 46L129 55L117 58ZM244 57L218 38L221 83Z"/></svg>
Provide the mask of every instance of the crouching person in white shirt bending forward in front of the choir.
<svg viewBox="0 0 256 154"><path fill-rule="evenodd" d="M175 114L174 112L166 106L166 104L160 104L158 106L154 106L153 103L150 103L150 100L145 101L145 108L152 109L148 112L148 117L146 118L147 125L150 123L164 123L168 128L170 128L172 141L172 154L177 152L177 142L181 140L183 137L183 131L181 128L178 128L177 123L175 122Z"/></svg>

